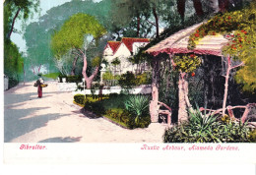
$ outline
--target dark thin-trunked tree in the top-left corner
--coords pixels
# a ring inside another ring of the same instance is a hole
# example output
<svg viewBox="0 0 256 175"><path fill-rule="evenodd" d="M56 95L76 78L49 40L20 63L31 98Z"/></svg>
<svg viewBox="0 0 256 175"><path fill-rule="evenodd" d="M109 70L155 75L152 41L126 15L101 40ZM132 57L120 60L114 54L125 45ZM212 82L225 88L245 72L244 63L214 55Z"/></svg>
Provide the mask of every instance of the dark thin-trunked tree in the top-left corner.
<svg viewBox="0 0 256 175"><path fill-rule="evenodd" d="M14 31L14 25L17 19L28 20L30 15L37 12L39 0L6 0L4 9L9 10L8 27L5 28L6 37L10 38ZM6 14L5 14L6 15Z"/></svg>

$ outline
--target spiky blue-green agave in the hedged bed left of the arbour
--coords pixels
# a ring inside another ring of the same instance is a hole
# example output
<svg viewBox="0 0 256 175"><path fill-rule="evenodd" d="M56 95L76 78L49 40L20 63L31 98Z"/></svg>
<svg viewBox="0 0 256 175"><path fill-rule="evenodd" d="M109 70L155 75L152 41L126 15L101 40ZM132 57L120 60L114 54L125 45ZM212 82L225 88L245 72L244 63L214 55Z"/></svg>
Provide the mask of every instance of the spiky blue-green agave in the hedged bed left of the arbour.
<svg viewBox="0 0 256 175"><path fill-rule="evenodd" d="M144 95L132 95L124 102L126 110L135 116L135 123L149 113L149 99Z"/></svg>

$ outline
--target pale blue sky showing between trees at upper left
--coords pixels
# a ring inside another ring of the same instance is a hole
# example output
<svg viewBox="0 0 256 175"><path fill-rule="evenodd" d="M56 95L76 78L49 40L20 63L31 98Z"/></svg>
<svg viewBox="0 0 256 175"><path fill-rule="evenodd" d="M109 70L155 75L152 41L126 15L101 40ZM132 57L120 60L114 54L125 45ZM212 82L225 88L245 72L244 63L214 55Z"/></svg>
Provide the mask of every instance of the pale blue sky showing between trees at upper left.
<svg viewBox="0 0 256 175"><path fill-rule="evenodd" d="M46 14L46 11L62 5L66 2L70 2L71 0L40 0L40 16L43 16L44 14ZM95 2L100 2L101 0L94 0ZM34 17L28 21L29 25L32 22L36 22L38 21L39 16L38 15L34 15ZM15 29L21 29L22 23L21 21L17 21L15 24ZM20 48L21 52L26 52L27 48L26 48L26 41L23 39L23 34L20 33L15 33L13 32L11 35L11 40L17 44L17 46Z"/></svg>

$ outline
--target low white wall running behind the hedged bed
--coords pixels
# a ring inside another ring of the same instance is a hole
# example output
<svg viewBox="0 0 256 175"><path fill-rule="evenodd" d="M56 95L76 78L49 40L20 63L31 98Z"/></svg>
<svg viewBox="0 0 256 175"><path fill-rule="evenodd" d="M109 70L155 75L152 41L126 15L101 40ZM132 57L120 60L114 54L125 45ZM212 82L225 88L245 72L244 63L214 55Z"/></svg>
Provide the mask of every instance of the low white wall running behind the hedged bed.
<svg viewBox="0 0 256 175"><path fill-rule="evenodd" d="M123 89L123 90L127 90L127 89ZM135 87L135 88L130 88L128 89L129 93L131 94L149 94L152 91L152 87L151 86L140 86L140 87ZM102 89L102 94L109 94L109 93L120 93L122 91L121 87L110 87L110 89ZM99 93L99 89L95 89L94 90L95 94ZM91 89L85 89L84 90L77 90L77 91L73 91L73 94L92 94L92 90Z"/></svg>

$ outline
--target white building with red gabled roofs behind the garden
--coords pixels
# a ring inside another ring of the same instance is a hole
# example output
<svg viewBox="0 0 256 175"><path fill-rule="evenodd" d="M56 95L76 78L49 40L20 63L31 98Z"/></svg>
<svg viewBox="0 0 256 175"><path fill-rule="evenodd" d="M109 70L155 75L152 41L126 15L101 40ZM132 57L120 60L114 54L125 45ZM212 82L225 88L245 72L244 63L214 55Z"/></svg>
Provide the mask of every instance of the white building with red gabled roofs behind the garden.
<svg viewBox="0 0 256 175"><path fill-rule="evenodd" d="M105 71L109 71L114 75L125 74L127 71L137 73L138 66L132 64L129 58L137 54L139 48L147 45L149 42L150 39L148 38L134 37L123 37L121 41L108 41L103 51L103 59L107 61L108 65L106 67L101 65L100 77L102 78L102 74ZM120 61L120 64L112 64L116 59ZM142 71L147 70L148 67L145 63Z"/></svg>

